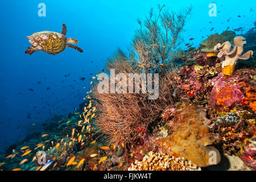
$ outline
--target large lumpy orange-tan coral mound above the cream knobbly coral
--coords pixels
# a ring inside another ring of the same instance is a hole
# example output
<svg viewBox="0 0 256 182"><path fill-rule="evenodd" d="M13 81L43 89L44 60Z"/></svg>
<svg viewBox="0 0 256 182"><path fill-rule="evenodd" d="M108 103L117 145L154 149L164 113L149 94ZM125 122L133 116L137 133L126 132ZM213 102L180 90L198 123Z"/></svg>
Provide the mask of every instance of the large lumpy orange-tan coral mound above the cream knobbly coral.
<svg viewBox="0 0 256 182"><path fill-rule="evenodd" d="M156 144L163 152L191 160L199 167L217 164L221 160L220 153L213 146L214 138L209 133L209 127L204 125L204 118L193 104L177 106L174 117L173 133L159 139Z"/></svg>

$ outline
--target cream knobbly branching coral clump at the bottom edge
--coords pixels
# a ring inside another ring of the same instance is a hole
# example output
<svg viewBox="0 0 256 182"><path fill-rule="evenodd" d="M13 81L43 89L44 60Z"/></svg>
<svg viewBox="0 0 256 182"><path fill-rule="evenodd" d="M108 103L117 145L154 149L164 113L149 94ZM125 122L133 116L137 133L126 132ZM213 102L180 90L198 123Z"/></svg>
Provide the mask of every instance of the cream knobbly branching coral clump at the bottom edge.
<svg viewBox="0 0 256 182"><path fill-rule="evenodd" d="M199 171L200 167L184 158L149 152L142 161L135 160L129 171Z"/></svg>

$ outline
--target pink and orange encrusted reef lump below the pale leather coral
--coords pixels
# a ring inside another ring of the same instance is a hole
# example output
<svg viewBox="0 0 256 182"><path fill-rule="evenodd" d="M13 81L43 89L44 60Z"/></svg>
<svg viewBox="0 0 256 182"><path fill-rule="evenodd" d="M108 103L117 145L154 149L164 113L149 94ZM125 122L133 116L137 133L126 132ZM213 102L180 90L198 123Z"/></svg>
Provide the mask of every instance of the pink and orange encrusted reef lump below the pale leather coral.
<svg viewBox="0 0 256 182"><path fill-rule="evenodd" d="M212 107L241 105L248 106L255 112L256 94L252 77L254 74L253 70L242 70L229 77L220 73L217 77L209 80L213 85L209 98Z"/></svg>

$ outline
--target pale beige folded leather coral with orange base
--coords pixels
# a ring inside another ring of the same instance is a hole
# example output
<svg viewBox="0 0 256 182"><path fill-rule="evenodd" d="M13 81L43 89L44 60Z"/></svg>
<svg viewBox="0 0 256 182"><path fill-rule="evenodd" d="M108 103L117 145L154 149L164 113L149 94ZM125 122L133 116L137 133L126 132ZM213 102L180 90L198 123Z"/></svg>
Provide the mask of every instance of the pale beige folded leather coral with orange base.
<svg viewBox="0 0 256 182"><path fill-rule="evenodd" d="M247 60L253 55L253 51L247 51L242 55L243 46L246 44L245 38L242 36L236 36L234 38L234 47L231 50L232 44L230 42L224 42L223 44L218 43L214 46L214 51L220 49L218 57L225 57L222 61L222 73L224 75L232 75L234 68L238 60Z"/></svg>

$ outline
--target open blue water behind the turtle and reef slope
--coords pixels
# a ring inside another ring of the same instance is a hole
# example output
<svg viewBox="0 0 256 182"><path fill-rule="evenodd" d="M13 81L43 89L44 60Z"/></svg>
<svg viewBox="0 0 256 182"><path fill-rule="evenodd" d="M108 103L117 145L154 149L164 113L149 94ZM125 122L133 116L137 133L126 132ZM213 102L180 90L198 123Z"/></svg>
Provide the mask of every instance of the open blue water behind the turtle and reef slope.
<svg viewBox="0 0 256 182"><path fill-rule="evenodd" d="M217 5L217 16L208 14L211 2ZM39 3L46 5L45 17L38 16ZM53 115L65 116L72 112L86 96L92 76L104 68L105 60L117 47L130 46L138 28L137 18L143 19L151 7L156 9L158 4L171 10L192 5L192 16L185 25L183 37L184 43L195 38L192 40L195 47L207 35L221 34L227 27L248 30L255 22L255 1L1 2L0 150L33 131L42 130L42 123ZM40 51L24 54L31 46L27 35L43 30L61 32L62 23L67 25L66 36L78 39L77 46L84 53L67 48L56 56ZM70 76L65 77L68 74ZM82 81L81 77L86 79Z"/></svg>

